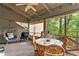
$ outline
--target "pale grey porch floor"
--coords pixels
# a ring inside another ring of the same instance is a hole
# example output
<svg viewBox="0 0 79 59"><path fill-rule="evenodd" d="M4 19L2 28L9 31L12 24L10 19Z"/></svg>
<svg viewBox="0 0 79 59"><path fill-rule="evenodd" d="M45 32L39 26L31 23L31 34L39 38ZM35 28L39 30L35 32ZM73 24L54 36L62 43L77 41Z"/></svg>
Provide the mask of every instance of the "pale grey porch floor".
<svg viewBox="0 0 79 59"><path fill-rule="evenodd" d="M34 47L30 41L11 43L5 46L6 56L33 56ZM65 56L72 56L65 53Z"/></svg>

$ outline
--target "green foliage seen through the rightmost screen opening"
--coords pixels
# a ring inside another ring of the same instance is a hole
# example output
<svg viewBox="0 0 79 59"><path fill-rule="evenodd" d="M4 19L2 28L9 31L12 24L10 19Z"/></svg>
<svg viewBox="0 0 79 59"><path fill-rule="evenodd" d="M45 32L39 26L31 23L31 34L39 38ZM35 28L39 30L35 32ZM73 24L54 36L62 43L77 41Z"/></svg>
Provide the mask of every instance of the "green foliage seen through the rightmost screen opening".
<svg viewBox="0 0 79 59"><path fill-rule="evenodd" d="M68 36L76 36L79 34L79 15L72 15L69 17L68 22Z"/></svg>

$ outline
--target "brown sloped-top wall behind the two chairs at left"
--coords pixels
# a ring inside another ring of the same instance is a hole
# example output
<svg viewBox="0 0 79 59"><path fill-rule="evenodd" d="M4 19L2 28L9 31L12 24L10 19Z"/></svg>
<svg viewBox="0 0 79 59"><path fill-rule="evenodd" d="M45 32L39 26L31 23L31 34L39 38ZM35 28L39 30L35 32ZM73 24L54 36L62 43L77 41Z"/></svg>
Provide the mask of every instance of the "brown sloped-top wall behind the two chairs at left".
<svg viewBox="0 0 79 59"><path fill-rule="evenodd" d="M16 21L25 22L27 19L0 4L0 34L12 31L17 34L17 39L19 39L20 33L25 29L17 25Z"/></svg>

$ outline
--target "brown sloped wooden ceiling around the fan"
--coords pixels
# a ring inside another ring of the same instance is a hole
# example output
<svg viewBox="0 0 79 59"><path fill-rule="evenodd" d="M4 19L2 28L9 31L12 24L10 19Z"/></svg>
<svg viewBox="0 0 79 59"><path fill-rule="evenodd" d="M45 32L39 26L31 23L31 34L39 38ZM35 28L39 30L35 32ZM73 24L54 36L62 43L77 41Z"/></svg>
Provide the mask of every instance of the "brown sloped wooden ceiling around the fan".
<svg viewBox="0 0 79 59"><path fill-rule="evenodd" d="M5 3L2 4L7 8L10 8L12 11L17 14L24 16L28 20L39 20L48 17L53 17L56 15L64 15L68 13L72 13L79 10L79 4L72 3L38 3L38 5L33 6L37 11L29 9L25 12L26 5L16 6L15 3Z"/></svg>

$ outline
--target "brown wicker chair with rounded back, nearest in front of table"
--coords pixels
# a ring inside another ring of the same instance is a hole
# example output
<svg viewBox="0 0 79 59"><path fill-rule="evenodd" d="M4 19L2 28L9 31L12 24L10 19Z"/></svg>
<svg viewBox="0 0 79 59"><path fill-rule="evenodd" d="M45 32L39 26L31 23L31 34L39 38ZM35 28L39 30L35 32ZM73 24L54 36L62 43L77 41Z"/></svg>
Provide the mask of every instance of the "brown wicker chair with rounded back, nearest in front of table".
<svg viewBox="0 0 79 59"><path fill-rule="evenodd" d="M64 56L65 50L58 45L50 45L45 49L45 56Z"/></svg>

